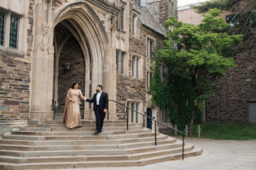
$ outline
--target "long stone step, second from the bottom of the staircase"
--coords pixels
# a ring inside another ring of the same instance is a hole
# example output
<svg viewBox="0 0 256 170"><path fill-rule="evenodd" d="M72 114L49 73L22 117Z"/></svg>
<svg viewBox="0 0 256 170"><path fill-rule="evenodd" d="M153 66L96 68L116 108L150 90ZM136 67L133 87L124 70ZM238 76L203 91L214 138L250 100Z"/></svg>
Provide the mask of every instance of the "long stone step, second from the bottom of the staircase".
<svg viewBox="0 0 256 170"><path fill-rule="evenodd" d="M157 146L139 147L125 150L0 150L0 156L124 156L129 154L139 154L155 150L168 150L182 147L182 143L161 144Z"/></svg>

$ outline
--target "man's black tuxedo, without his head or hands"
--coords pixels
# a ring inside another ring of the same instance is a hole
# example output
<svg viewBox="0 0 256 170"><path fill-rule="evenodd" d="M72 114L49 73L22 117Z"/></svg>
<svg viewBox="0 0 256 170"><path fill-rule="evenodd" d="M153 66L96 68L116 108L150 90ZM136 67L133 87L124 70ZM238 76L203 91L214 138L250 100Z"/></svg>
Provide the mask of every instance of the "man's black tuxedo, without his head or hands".
<svg viewBox="0 0 256 170"><path fill-rule="evenodd" d="M93 103L93 111L96 116L96 132L102 132L104 118L107 113L104 113L104 109L108 110L108 94L102 92L99 105L96 105L97 93L93 95L92 99L86 99L87 102Z"/></svg>

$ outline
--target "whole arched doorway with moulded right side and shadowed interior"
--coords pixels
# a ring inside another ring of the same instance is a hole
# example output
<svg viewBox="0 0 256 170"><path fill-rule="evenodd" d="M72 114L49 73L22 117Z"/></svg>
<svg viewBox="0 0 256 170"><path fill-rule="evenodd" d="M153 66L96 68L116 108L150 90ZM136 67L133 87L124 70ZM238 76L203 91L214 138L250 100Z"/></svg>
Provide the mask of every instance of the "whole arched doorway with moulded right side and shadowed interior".
<svg viewBox="0 0 256 170"><path fill-rule="evenodd" d="M64 35L61 37L61 34ZM71 43L68 45L68 42ZM91 96L92 89L96 87L96 84L103 83L103 61L108 54L106 48L108 46L108 37L101 21L90 6L87 3L79 2L70 4L57 14L54 44L54 104L58 106L57 111L61 113L67 88L71 86L73 81L80 83L81 90L87 97ZM70 46L73 46L73 48L70 48ZM79 61L74 60L74 55L77 54ZM64 56L63 59L61 55ZM82 58L84 58L84 63ZM67 73L67 69L65 71L65 62L70 65L70 73ZM61 70L61 67L64 68ZM81 112L84 118L95 118L92 105L84 102L81 108L84 108L84 113Z"/></svg>

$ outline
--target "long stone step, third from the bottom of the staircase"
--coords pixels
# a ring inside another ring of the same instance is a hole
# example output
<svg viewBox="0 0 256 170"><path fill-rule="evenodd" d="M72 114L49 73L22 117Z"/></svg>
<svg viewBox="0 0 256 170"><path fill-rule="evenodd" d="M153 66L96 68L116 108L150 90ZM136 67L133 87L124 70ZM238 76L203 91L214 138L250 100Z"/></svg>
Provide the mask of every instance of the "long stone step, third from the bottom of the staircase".
<svg viewBox="0 0 256 170"><path fill-rule="evenodd" d="M158 145L172 144L176 139L160 140ZM19 145L19 144L0 144L0 150L24 150L24 151L38 151L38 150L123 150L131 148L139 148L146 146L154 146L154 141L140 142L136 144L58 144L58 145Z"/></svg>

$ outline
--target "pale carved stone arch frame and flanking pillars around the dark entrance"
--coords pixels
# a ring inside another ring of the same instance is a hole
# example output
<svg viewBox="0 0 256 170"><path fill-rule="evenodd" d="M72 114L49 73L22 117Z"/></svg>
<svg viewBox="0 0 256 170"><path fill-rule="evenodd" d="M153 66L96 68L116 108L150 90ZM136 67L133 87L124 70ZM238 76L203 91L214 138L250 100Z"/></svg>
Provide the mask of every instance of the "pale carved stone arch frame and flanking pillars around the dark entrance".
<svg viewBox="0 0 256 170"><path fill-rule="evenodd" d="M44 5L38 5L44 9ZM44 17L37 12L38 17ZM45 15L47 16L47 15ZM109 44L108 38L112 37L112 32L107 32L102 26L97 14L85 2L65 3L61 8L57 8L48 24L44 23L44 18L38 20L36 26L35 50L33 51L32 67L32 95L31 95L31 120L47 121L53 117L53 104L59 102L58 94L59 72L61 65L61 48L67 41L76 41L76 47L80 48L84 56L84 95L91 97L96 85L102 84L108 92L110 99L116 98L116 82L114 79L114 58L115 49ZM42 22L43 21L43 22ZM70 33L61 40L59 47L55 47L55 28L64 27ZM43 31L43 34L42 34ZM70 37L69 37L70 36ZM79 45L78 45L78 43ZM59 49L59 51L58 51ZM67 86L67 85L66 85ZM65 86L65 87L66 87ZM68 87L67 87L68 88ZM91 90L93 89L93 91ZM65 94L65 93L64 93ZM54 102L53 102L54 101ZM88 103L84 104L84 118L95 118ZM109 104L109 112L115 113L116 105ZM112 114L112 118L115 117Z"/></svg>

